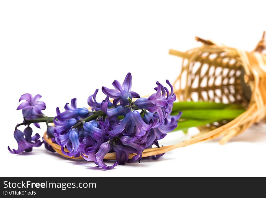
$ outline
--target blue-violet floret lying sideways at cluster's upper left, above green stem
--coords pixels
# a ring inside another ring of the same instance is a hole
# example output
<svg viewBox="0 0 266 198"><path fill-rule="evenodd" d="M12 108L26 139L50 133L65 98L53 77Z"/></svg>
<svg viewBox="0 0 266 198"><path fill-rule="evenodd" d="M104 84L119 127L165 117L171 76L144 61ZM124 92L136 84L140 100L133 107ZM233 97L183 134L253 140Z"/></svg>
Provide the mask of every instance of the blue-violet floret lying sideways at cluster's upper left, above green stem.
<svg viewBox="0 0 266 198"><path fill-rule="evenodd" d="M71 105L66 103L65 111L57 115L59 121L69 120L75 117L87 117L89 115L89 110L87 108L77 108L76 98L71 99Z"/></svg>

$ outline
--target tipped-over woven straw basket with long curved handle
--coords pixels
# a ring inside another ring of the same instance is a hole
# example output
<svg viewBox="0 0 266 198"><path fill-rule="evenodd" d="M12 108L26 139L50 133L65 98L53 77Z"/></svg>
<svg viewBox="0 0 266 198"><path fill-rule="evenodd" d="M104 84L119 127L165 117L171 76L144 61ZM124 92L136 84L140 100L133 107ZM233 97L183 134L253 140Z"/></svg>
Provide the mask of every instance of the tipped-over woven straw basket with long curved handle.
<svg viewBox="0 0 266 198"><path fill-rule="evenodd" d="M199 37L196 37L196 40L203 43L202 47L190 49L187 52L170 50L171 55L183 58L181 73L174 82L177 101L238 103L245 106L247 110L219 127L214 125L199 127L201 133L190 140L175 145L145 149L142 157L158 155L217 137L222 137L220 144L224 144L252 124L265 121L266 39L264 37L265 32L253 52L230 48ZM56 152L65 156L61 152L61 146L53 143L46 133L44 140ZM67 152L67 149L65 151ZM131 154L129 158L134 155ZM75 159L82 159L82 157ZM104 159L115 159L115 152L106 154Z"/></svg>

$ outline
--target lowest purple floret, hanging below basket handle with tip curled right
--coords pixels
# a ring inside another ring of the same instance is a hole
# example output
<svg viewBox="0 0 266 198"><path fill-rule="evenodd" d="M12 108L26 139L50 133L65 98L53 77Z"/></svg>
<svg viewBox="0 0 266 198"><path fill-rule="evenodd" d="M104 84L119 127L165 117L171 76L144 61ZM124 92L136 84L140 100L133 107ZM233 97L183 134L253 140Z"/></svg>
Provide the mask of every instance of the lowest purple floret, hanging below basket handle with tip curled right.
<svg viewBox="0 0 266 198"><path fill-rule="evenodd" d="M96 162L95 162L99 167L102 167L104 169L110 169L114 168L117 165L117 162L115 162L112 166L108 166L103 162L104 156L110 151L110 149L111 147L109 142L101 144L99 151L96 153Z"/></svg>

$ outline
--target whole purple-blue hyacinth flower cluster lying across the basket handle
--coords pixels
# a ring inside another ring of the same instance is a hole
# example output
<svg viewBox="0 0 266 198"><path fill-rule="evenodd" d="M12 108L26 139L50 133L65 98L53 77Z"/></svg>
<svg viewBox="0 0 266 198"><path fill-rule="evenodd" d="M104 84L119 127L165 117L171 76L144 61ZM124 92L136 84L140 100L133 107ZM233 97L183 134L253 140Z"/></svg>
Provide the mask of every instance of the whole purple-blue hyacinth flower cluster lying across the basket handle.
<svg viewBox="0 0 266 198"><path fill-rule="evenodd" d="M41 111L45 103L38 101L40 95L23 94L19 101L25 100L18 106L22 109L24 122L15 128L14 137L18 149L9 151L19 154L29 152L34 146L41 146L38 134L32 135L30 124L37 127L40 122L47 124L47 135L54 143L61 146L66 156L82 156L104 169L110 169L117 164L142 159L142 152L153 145L159 147L158 140L167 135L167 132L177 127L181 112L171 115L176 96L173 86L167 80L170 89L156 82L155 93L150 97L141 98L138 93L131 91L131 74L128 73L121 84L115 80L112 85L115 89L102 87L106 95L102 102L96 101L98 89L88 97L88 107L77 108L76 98L66 103L64 111L57 107L55 117L47 117ZM169 91L170 90L170 91ZM54 126L48 125L53 122ZM22 133L17 127L25 125ZM54 149L44 142L45 147L54 152ZM104 157L109 152L116 152L116 162L109 166ZM132 159L129 155L133 154ZM158 159L161 155L152 156Z"/></svg>

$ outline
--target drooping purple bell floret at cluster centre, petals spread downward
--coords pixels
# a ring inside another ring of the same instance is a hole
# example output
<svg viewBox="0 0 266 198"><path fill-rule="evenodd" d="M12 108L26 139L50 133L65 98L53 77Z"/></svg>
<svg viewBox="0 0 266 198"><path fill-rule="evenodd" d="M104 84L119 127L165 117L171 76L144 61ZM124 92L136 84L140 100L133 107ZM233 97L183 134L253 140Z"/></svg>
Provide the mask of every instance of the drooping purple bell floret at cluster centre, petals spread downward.
<svg viewBox="0 0 266 198"><path fill-rule="evenodd" d="M133 110L133 111L129 111L125 115L125 118L122 120L120 125L106 132L109 135L117 135L117 134L122 133L125 129L127 129L128 130L127 134L133 134L135 131L135 139L137 139L137 138L144 136L146 134L146 131L150 130L154 124L157 124L157 121L154 121L153 124L146 124L142 120L140 113L138 111Z"/></svg>

